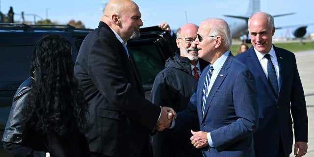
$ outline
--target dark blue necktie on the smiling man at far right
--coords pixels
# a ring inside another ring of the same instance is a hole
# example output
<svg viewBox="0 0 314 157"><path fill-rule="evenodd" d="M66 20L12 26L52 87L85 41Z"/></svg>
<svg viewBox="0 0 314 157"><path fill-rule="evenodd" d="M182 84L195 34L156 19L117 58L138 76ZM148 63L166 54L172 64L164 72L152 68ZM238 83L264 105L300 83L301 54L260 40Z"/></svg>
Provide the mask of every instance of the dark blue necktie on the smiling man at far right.
<svg viewBox="0 0 314 157"><path fill-rule="evenodd" d="M265 58L267 58L267 74L268 74L268 82L276 96L278 97L278 81L277 81L277 76L276 76L276 71L273 62L270 59L269 54L264 55Z"/></svg>

